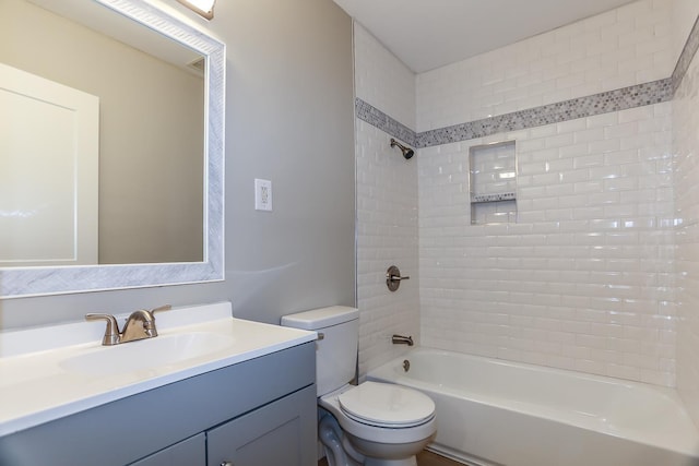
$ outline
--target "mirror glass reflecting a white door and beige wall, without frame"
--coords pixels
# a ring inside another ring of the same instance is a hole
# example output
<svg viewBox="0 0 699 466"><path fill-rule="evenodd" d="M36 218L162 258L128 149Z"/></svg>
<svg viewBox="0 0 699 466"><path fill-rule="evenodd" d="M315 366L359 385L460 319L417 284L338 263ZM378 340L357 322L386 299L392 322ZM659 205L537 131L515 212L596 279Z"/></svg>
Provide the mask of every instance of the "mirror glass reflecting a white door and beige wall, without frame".
<svg viewBox="0 0 699 466"><path fill-rule="evenodd" d="M94 2L0 0L0 266L204 260L201 55Z"/></svg>

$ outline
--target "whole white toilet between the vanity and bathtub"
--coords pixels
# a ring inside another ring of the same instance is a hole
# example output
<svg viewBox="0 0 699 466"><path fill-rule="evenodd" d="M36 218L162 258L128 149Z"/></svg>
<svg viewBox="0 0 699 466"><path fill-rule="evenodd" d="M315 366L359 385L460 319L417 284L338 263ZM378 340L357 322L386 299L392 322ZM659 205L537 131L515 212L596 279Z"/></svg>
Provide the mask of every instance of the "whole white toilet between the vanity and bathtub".
<svg viewBox="0 0 699 466"><path fill-rule="evenodd" d="M416 466L435 437L435 403L401 385L352 385L359 311L334 306L282 318L282 325L318 332L318 438L330 466Z"/></svg>

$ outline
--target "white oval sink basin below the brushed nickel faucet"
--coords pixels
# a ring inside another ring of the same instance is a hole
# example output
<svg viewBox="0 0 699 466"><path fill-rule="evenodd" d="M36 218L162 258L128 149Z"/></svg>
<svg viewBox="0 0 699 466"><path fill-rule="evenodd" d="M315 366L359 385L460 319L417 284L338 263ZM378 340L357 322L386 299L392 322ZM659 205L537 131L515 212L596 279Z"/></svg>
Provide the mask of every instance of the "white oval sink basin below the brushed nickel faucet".
<svg viewBox="0 0 699 466"><path fill-rule="evenodd" d="M233 336L212 332L159 335L116 346L100 346L62 360L59 366L67 371L87 375L159 370L165 366L221 351L234 342Z"/></svg>

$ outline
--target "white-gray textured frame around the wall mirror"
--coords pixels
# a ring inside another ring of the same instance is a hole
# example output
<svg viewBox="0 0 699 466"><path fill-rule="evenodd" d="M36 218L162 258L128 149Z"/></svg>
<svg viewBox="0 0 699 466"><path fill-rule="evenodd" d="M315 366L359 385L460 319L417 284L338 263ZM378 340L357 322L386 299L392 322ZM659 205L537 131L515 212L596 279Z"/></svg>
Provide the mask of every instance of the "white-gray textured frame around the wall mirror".
<svg viewBox="0 0 699 466"><path fill-rule="evenodd" d="M204 261L0 268L0 298L224 279L225 45L143 0L93 0L206 57ZM134 225L138 228L138 225Z"/></svg>

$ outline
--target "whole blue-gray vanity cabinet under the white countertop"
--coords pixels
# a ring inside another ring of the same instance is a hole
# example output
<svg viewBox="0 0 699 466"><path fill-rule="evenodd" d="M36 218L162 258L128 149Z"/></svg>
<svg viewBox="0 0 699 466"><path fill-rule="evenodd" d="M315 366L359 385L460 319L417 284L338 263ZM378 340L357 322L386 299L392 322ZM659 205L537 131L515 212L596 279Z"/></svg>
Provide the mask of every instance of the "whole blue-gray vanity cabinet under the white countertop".
<svg viewBox="0 0 699 466"><path fill-rule="evenodd" d="M315 382L308 342L2 437L0 465L315 466Z"/></svg>

